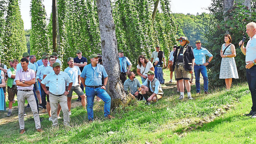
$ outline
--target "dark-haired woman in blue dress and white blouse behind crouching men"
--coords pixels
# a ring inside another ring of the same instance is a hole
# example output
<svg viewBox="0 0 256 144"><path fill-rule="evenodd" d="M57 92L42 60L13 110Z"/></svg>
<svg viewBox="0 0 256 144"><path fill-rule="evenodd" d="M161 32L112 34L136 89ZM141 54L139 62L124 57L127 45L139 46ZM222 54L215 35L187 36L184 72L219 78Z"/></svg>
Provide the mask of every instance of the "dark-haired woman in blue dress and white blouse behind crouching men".
<svg viewBox="0 0 256 144"><path fill-rule="evenodd" d="M163 57L164 57L164 52L159 51L158 55L157 55L157 58L156 58L156 61L154 63L154 65L155 65L155 77L156 77L156 79L159 80L160 84L164 84L163 69L162 69L162 66L163 66L163 63L164 63Z"/></svg>

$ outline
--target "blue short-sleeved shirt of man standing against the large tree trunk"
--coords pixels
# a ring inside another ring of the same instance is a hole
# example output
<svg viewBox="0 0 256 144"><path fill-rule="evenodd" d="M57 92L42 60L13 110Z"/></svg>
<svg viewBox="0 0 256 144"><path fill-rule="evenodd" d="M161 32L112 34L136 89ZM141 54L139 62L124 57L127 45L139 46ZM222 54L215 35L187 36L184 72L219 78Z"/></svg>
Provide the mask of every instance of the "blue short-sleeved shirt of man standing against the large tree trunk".
<svg viewBox="0 0 256 144"><path fill-rule="evenodd" d="M84 66L84 70L82 71L80 77L85 78L85 85L87 86L100 86L102 85L101 78L108 77L108 74L102 65L97 64L94 70L92 68L92 64L89 64Z"/></svg>

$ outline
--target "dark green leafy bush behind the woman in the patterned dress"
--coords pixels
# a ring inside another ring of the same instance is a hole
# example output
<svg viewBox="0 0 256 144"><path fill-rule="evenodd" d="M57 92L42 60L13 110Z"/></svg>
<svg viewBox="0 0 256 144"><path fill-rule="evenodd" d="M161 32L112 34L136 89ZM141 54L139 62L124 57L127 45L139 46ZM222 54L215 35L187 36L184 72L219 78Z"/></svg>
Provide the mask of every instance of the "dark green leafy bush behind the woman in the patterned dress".
<svg viewBox="0 0 256 144"><path fill-rule="evenodd" d="M252 4L254 3L255 0L252 1ZM231 35L232 43L236 46L235 60L239 75L239 79L236 79L236 82L245 81L245 56L242 54L241 50L238 49L238 43L242 40L242 36L244 35L243 33L246 30L246 24L256 19L255 8L252 5L252 12L250 12L247 7L240 4L240 1L236 1L233 8L225 14L225 17L228 17L226 21L224 21L223 15L223 1L214 0L212 5L209 7L209 10L214 16L209 25L209 32L205 34L205 39L208 42L206 47L208 47L210 52L213 54L213 60L208 66L210 84L214 86L224 84L224 80L219 79L221 63L220 50L221 45L225 43L224 35L227 33ZM247 36L246 33L245 35ZM249 38L247 37L245 45L248 40Z"/></svg>

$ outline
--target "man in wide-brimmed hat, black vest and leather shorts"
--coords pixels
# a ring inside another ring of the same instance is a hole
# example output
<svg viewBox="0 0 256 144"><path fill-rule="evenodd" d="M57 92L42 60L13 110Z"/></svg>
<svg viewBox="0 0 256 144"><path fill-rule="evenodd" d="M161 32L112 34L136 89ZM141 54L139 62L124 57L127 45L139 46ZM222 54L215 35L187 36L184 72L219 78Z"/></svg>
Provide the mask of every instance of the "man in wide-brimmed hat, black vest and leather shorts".
<svg viewBox="0 0 256 144"><path fill-rule="evenodd" d="M180 87L180 97L179 99L184 98L184 83L188 92L188 100L193 100L190 93L190 76L189 73L193 73L193 67L195 63L194 52L192 46L188 45L189 41L187 37L181 36L179 39L176 39L180 42L180 46L177 47L176 51L173 53L173 70L176 72L176 80L179 80Z"/></svg>

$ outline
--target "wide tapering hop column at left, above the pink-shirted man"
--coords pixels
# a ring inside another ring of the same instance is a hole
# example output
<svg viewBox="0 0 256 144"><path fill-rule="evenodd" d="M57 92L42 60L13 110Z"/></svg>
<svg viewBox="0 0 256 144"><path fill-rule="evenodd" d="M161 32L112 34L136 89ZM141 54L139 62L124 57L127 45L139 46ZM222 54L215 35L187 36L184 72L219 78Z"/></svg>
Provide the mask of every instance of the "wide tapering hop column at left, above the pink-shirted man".
<svg viewBox="0 0 256 144"><path fill-rule="evenodd" d="M18 0L9 0L5 23L3 63L13 58L20 60L23 52L27 52L23 20L20 15Z"/></svg>

